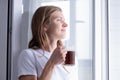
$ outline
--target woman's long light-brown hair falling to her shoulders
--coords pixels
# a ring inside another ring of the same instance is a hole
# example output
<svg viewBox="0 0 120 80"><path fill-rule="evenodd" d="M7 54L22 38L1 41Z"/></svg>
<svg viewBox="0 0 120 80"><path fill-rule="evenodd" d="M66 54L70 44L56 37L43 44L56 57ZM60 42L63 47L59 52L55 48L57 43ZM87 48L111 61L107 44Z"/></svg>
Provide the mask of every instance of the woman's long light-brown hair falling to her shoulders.
<svg viewBox="0 0 120 80"><path fill-rule="evenodd" d="M55 11L62 10L56 6L42 6L35 11L31 22L32 39L28 44L29 48L36 47L46 50L46 46L49 45L49 39L44 31L44 25L50 22L51 14ZM57 44L59 45L60 43L61 41L58 40Z"/></svg>

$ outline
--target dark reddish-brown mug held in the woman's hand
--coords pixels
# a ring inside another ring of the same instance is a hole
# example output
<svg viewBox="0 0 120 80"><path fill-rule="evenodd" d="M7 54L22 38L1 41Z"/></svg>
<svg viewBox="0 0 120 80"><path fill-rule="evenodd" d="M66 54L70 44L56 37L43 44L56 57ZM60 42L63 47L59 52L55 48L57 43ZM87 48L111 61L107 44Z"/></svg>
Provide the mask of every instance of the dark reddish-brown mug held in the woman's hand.
<svg viewBox="0 0 120 80"><path fill-rule="evenodd" d="M74 65L75 64L75 51L67 51L65 57L65 65Z"/></svg>

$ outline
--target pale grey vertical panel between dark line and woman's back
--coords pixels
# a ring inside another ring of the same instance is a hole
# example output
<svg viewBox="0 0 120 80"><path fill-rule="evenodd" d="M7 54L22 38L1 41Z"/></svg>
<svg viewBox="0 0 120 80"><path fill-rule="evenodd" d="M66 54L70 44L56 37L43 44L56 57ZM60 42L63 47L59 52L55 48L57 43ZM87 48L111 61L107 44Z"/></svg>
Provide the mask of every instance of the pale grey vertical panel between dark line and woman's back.
<svg viewBox="0 0 120 80"><path fill-rule="evenodd" d="M18 80L17 60L22 49L27 48L28 25L27 12L23 14L23 2L25 0L13 0L13 23L12 23L12 59L11 80Z"/></svg>

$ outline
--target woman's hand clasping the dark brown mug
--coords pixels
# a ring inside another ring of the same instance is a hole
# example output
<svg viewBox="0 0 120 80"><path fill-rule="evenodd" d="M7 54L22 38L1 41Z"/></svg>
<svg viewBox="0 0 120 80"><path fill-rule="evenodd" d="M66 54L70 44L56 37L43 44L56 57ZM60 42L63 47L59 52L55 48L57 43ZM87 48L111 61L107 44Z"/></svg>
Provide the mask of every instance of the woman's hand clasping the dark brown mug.
<svg viewBox="0 0 120 80"><path fill-rule="evenodd" d="M50 61L54 64L62 64L65 61L65 57L67 54L67 49L65 46L58 46L52 53Z"/></svg>

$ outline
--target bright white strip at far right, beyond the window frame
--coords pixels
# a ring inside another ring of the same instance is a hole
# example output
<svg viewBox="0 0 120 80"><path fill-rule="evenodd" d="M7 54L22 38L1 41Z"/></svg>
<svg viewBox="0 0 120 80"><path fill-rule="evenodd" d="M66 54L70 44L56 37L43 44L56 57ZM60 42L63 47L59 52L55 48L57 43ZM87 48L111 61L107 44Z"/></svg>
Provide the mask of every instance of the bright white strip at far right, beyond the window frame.
<svg viewBox="0 0 120 80"><path fill-rule="evenodd" d="M120 0L109 0L109 80L120 80Z"/></svg>

